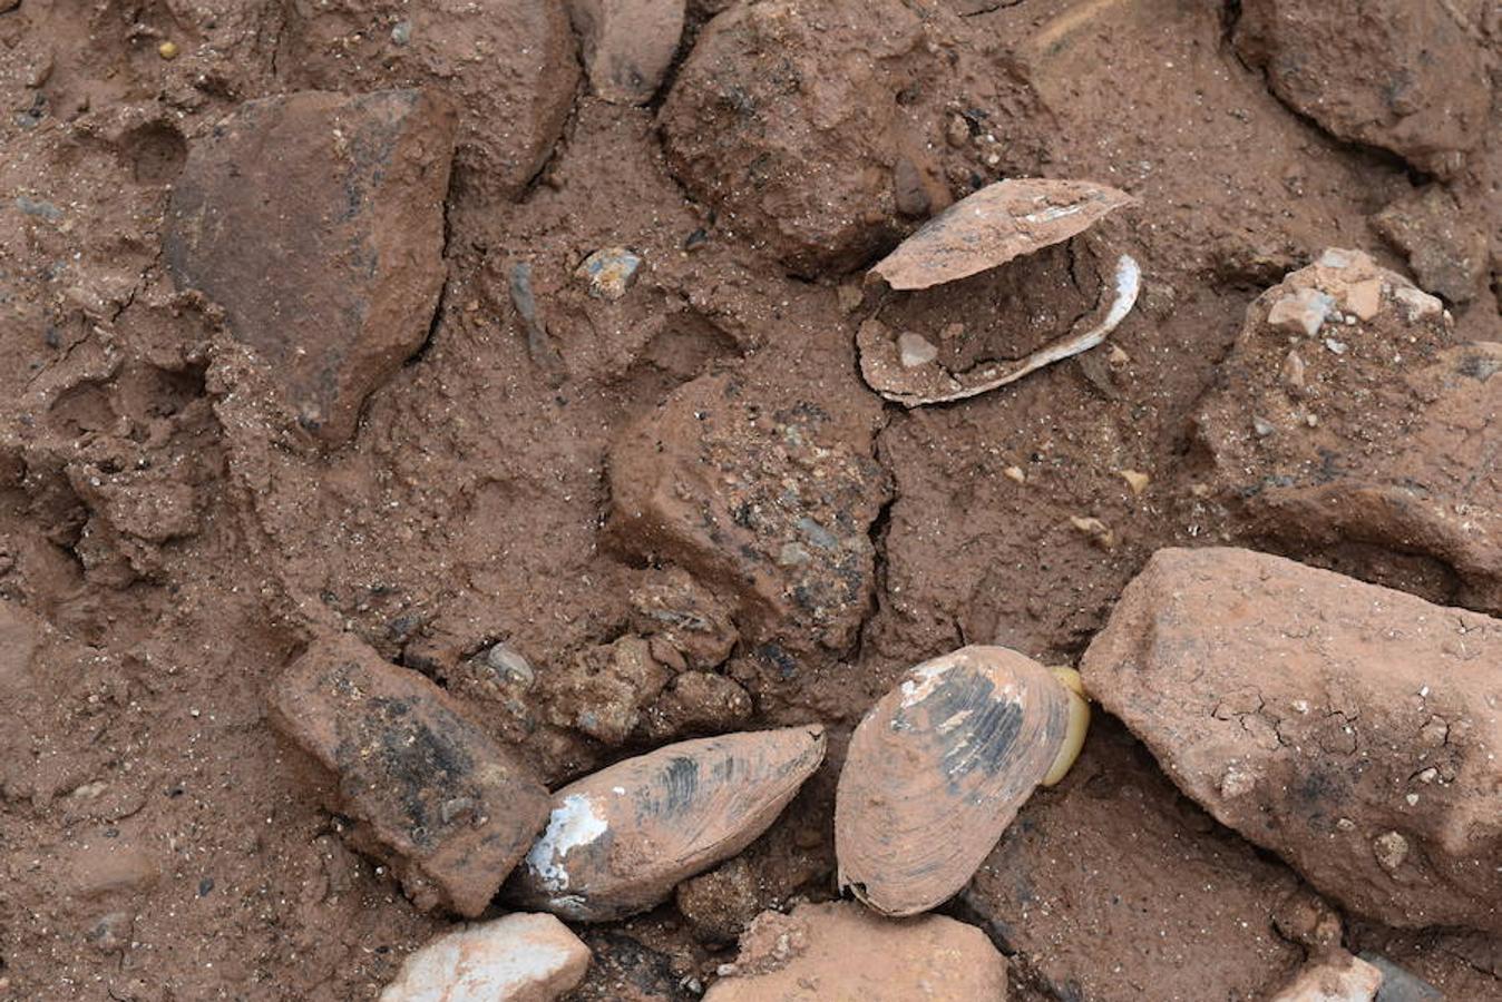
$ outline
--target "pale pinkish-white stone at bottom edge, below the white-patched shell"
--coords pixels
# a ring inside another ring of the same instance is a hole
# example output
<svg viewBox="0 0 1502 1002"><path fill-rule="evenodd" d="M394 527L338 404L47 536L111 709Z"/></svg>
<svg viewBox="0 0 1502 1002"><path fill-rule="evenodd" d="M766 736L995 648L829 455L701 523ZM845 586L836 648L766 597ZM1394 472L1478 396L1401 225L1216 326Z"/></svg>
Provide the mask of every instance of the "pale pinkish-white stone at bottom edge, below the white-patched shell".
<svg viewBox="0 0 1502 1002"><path fill-rule="evenodd" d="M443 933L407 957L380 1002L553 1002L584 980L589 946L551 915Z"/></svg>

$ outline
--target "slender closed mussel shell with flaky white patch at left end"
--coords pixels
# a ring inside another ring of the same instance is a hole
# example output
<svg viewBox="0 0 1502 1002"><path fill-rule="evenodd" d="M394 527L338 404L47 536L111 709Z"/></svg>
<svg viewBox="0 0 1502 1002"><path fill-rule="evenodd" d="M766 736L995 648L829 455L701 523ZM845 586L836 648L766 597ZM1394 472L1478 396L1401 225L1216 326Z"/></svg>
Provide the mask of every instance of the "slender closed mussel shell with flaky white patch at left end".
<svg viewBox="0 0 1502 1002"><path fill-rule="evenodd" d="M667 898L766 831L825 760L819 726L680 741L553 795L548 828L506 896L598 922Z"/></svg>

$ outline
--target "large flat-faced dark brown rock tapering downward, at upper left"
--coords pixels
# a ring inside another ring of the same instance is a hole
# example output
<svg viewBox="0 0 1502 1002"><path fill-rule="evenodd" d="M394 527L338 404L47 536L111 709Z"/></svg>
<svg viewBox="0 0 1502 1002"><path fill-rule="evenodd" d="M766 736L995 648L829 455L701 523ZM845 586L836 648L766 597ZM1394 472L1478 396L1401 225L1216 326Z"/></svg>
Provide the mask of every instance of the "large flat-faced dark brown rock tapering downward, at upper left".
<svg viewBox="0 0 1502 1002"><path fill-rule="evenodd" d="M224 308L327 444L428 336L454 135L424 90L264 98L194 141L173 188L179 286Z"/></svg>

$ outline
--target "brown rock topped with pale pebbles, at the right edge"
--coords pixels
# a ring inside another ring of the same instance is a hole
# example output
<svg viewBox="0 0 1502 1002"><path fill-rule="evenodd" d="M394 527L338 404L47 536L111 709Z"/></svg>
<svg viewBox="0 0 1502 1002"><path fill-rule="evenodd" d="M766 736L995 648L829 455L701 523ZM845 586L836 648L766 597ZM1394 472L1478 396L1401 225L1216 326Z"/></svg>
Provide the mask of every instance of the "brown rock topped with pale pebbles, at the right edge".
<svg viewBox="0 0 1502 1002"><path fill-rule="evenodd" d="M1248 308L1194 418L1202 488L1244 538L1502 610L1499 374L1502 344L1457 344L1437 298L1326 250Z"/></svg>

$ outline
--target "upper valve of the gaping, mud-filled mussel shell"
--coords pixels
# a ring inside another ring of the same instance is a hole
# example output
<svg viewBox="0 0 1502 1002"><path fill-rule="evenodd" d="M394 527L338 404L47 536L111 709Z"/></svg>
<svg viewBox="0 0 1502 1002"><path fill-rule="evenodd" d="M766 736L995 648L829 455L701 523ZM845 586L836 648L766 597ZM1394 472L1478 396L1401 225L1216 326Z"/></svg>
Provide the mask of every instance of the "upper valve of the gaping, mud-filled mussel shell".
<svg viewBox="0 0 1502 1002"><path fill-rule="evenodd" d="M1050 178L987 184L943 210L877 261L894 290L925 290L978 274L1089 230L1137 200L1093 182Z"/></svg>

